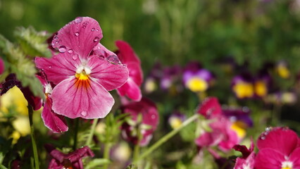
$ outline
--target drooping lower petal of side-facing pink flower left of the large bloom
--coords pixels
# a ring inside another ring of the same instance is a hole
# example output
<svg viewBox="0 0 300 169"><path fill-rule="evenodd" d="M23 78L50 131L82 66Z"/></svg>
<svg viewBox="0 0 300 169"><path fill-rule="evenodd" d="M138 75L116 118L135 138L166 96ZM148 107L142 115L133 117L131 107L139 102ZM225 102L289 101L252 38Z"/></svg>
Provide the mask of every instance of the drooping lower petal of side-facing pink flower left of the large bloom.
<svg viewBox="0 0 300 169"><path fill-rule="evenodd" d="M42 119L46 127L48 127L53 132L68 131L68 125L63 115L58 115L54 113L51 107L52 107L52 99L49 96L47 96L42 111Z"/></svg>

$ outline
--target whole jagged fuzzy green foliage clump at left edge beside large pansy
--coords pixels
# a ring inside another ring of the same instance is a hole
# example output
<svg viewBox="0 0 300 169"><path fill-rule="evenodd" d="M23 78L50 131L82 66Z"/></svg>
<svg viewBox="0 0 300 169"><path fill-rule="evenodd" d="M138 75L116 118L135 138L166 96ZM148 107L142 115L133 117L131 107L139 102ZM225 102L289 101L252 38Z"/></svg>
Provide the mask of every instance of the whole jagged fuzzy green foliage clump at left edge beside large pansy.
<svg viewBox="0 0 300 169"><path fill-rule="evenodd" d="M13 44L0 35L0 55L4 56L7 63L6 72L1 75L1 80L3 81L8 73L15 73L23 87L30 87L35 96L44 98L42 84L35 77L37 69L32 59L35 56L51 56L46 44L47 34L36 32L32 27L19 27L15 31L15 37L18 44Z"/></svg>

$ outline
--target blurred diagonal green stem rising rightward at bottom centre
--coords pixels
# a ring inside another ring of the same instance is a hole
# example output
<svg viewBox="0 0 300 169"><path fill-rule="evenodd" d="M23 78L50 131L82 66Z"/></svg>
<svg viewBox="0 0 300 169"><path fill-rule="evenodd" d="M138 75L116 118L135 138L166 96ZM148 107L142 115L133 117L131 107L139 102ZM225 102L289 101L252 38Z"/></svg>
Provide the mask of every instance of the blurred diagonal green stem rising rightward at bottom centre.
<svg viewBox="0 0 300 169"><path fill-rule="evenodd" d="M149 149L147 149L146 151L144 151L144 153L142 153L139 156L139 158L137 158L137 160L134 161L134 163L137 163L137 161L140 161L143 158L145 158L146 156L148 156L149 154L151 154L152 151L154 151L154 150L156 150L158 148L158 146L161 146L163 143L167 142L168 139L170 139L175 134L177 134L177 132L180 132L180 130L182 130L182 128L184 128L185 126L189 125L189 123L192 123L197 118L199 118L199 114L194 114L194 115L192 115L192 117L190 117L187 120L185 120L185 122L182 123L182 125L180 125L180 127L177 127L174 130L170 131L168 134L165 134L164 137L162 137L161 139L159 139L155 144L153 144L152 146L150 146Z"/></svg>

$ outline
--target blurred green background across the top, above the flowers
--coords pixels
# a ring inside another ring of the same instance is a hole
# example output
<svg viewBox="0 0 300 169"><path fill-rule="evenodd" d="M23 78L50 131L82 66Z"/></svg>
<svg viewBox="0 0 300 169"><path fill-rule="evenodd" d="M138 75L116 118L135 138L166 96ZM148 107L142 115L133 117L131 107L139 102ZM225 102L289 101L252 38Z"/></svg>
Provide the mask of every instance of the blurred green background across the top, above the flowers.
<svg viewBox="0 0 300 169"><path fill-rule="evenodd" d="M99 21L101 43L129 42L144 71L165 65L213 61L233 56L259 68L285 59L292 71L300 55L299 0L0 0L0 33L13 40L18 26L56 32L77 16Z"/></svg>

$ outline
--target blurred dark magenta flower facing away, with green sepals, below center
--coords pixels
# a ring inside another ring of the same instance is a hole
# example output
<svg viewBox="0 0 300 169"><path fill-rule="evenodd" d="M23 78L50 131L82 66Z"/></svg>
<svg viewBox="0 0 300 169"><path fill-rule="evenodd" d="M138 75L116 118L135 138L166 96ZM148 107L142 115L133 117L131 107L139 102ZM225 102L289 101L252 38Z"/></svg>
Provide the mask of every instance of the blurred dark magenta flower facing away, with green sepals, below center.
<svg viewBox="0 0 300 169"><path fill-rule="evenodd" d="M130 118L127 118L121 127L123 138L133 144L137 144L137 132L140 130L142 138L139 145L146 146L146 144L149 144L152 133L156 130L159 121L155 104L149 99L142 98L139 102L132 102L123 106L122 113L130 115Z"/></svg>

